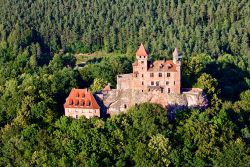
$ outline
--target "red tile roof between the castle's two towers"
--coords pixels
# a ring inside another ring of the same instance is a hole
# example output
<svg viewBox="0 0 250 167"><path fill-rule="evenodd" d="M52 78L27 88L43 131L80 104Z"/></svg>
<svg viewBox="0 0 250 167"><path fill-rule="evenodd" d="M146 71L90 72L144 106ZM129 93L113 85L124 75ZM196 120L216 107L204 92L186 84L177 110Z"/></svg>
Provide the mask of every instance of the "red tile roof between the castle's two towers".
<svg viewBox="0 0 250 167"><path fill-rule="evenodd" d="M148 71L170 71L176 72L176 65L172 60L157 60L149 64Z"/></svg>

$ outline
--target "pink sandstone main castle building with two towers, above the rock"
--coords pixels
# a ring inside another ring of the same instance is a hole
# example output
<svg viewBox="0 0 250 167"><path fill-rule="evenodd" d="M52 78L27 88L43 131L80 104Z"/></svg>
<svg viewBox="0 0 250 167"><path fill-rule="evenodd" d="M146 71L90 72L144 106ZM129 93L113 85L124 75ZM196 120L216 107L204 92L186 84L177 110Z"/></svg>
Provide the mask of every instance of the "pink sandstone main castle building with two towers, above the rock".
<svg viewBox="0 0 250 167"><path fill-rule="evenodd" d="M134 89L148 92L181 93L181 54L176 48L173 60L148 61L143 44L136 52L133 73L117 76L117 89Z"/></svg>

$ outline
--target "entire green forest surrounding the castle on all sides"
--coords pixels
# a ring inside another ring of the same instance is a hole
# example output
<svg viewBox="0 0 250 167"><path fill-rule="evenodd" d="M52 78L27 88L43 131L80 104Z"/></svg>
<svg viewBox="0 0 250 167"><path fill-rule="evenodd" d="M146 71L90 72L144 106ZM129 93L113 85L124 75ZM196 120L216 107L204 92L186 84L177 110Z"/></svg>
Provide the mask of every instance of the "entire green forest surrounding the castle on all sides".
<svg viewBox="0 0 250 167"><path fill-rule="evenodd" d="M209 108L63 116L72 88L131 72L141 42L151 59L179 48ZM0 128L0 166L250 166L249 1L0 0Z"/></svg>

